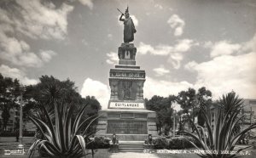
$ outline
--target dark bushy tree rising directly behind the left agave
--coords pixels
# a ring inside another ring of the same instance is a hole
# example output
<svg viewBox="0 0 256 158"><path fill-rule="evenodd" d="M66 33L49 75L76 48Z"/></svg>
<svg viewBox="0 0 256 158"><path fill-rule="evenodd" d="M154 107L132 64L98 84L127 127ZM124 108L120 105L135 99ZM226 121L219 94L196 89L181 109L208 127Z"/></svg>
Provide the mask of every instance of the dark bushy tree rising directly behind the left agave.
<svg viewBox="0 0 256 158"><path fill-rule="evenodd" d="M41 76L38 84L26 86L24 98L27 112L37 113L39 105L44 104L46 110L53 110L56 100L65 100L69 103L83 104L83 99L77 92L74 82L69 79L60 81L54 76ZM79 107L78 107L79 108Z"/></svg>

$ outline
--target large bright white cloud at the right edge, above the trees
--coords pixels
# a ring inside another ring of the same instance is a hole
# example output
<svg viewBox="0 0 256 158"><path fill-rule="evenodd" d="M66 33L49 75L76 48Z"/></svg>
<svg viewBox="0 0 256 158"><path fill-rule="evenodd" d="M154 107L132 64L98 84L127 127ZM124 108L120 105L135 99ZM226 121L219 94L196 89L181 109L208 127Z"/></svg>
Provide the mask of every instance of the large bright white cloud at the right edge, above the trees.
<svg viewBox="0 0 256 158"><path fill-rule="evenodd" d="M234 90L244 98L256 98L256 53L222 55L201 64L189 63L198 73L196 85L206 86L218 99Z"/></svg>

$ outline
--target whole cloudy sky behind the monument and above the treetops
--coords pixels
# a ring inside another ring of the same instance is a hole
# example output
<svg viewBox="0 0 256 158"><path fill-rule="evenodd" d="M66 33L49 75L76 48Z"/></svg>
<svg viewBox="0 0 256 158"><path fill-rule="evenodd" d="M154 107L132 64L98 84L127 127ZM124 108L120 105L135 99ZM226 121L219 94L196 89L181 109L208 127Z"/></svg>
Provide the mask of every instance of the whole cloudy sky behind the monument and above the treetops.
<svg viewBox="0 0 256 158"><path fill-rule="evenodd" d="M69 78L106 107L123 39L116 8L127 4L145 98L205 86L214 99L256 99L254 0L1 0L0 73L23 84Z"/></svg>

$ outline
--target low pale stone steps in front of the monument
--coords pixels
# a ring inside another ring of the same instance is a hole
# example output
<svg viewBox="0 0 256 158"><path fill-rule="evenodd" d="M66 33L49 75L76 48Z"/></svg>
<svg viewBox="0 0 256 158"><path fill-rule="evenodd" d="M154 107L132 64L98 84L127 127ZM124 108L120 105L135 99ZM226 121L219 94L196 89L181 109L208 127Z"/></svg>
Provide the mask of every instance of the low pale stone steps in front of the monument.
<svg viewBox="0 0 256 158"><path fill-rule="evenodd" d="M143 141L119 141L119 152L143 152Z"/></svg>

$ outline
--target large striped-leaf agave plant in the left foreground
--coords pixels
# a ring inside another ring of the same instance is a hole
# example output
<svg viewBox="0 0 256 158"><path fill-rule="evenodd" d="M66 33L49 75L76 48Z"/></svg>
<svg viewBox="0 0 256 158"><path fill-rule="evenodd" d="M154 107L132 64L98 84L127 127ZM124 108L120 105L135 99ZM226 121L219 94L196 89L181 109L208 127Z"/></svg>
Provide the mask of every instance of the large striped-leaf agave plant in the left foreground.
<svg viewBox="0 0 256 158"><path fill-rule="evenodd" d="M90 125L98 116L90 116L81 121L84 110L79 110L77 116L73 116L74 104L65 104L63 102L55 102L54 115L49 115L43 106L46 121L40 120L36 116L29 116L32 122L38 127L43 139L36 140L28 151L28 157L34 155L36 148L48 157L82 157L86 153L85 147L88 144L89 135L86 134ZM81 129L85 127L84 131Z"/></svg>

